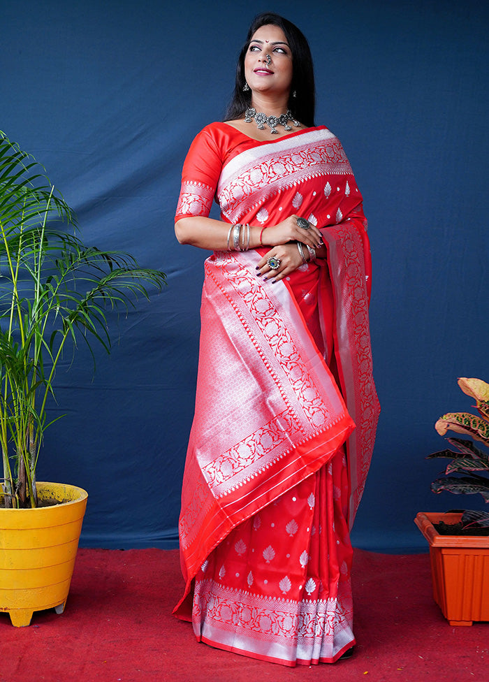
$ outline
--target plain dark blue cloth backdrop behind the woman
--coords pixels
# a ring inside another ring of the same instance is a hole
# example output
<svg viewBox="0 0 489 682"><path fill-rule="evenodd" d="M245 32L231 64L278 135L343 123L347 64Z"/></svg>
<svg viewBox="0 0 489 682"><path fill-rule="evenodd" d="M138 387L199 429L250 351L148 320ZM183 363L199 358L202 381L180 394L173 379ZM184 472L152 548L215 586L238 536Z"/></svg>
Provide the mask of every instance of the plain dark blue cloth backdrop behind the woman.
<svg viewBox="0 0 489 682"><path fill-rule="evenodd" d="M111 356L80 347L57 376L39 479L89 491L85 546L177 545L206 254L173 215L191 139L222 116L251 18L309 38L316 122L340 137L365 197L374 370L383 412L353 542L424 546L416 512L482 507L435 496L433 424L489 380L488 6L479 0L3 0L0 128L32 152L85 240L161 268L168 286L110 324ZM219 349L216 349L217 354Z"/></svg>

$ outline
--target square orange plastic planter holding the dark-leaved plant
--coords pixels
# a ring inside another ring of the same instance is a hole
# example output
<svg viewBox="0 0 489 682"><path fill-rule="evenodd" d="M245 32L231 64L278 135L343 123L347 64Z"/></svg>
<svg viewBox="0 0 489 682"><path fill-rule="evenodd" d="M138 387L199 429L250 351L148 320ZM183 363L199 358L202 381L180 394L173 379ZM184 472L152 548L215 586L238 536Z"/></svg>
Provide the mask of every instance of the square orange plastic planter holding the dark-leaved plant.
<svg viewBox="0 0 489 682"><path fill-rule="evenodd" d="M489 621L489 537L438 535L433 523L458 523L462 514L416 514L430 545L433 596L450 625Z"/></svg>

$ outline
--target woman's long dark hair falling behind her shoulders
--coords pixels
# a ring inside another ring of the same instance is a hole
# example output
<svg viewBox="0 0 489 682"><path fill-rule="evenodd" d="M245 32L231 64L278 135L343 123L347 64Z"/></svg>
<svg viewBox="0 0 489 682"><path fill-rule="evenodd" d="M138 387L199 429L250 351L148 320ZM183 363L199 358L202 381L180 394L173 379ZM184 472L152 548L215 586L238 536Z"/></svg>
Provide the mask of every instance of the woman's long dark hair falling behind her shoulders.
<svg viewBox="0 0 489 682"><path fill-rule="evenodd" d="M289 43L292 52L293 75L291 94L289 96L289 109L293 116L307 127L314 126L314 109L316 106L316 90L314 87L314 67L312 65L311 50L309 43L292 22L284 19L273 12L259 14L251 22L245 45L242 46L238 65L236 66L236 83L233 99L226 109L225 121L231 121L245 115L245 111L251 106L251 90L243 92L245 87L245 55L249 48L251 38L262 26L278 26ZM295 92L296 96L293 96Z"/></svg>

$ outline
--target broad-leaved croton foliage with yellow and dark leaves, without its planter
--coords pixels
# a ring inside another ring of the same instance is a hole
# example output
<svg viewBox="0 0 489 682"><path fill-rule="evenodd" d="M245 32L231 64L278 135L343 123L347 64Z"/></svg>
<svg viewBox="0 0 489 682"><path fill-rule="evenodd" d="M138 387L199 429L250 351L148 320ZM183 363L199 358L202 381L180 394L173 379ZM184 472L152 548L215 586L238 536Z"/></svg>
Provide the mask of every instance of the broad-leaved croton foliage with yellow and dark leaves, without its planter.
<svg viewBox="0 0 489 682"><path fill-rule="evenodd" d="M458 385L467 396L476 400L479 415L470 412L448 412L441 416L435 428L440 435L450 429L455 433L470 435L478 442L489 447L489 384L481 379L458 379ZM447 457L452 461L445 470L445 476L431 484L435 493L449 491L455 494L474 495L480 493L485 502L489 502L489 452L483 451L471 440L448 438L448 442L456 451L445 449L434 452L428 458ZM483 475L483 474L486 475ZM465 475L460 475L465 474ZM489 527L488 512L468 510L462 515L462 524L476 524Z"/></svg>

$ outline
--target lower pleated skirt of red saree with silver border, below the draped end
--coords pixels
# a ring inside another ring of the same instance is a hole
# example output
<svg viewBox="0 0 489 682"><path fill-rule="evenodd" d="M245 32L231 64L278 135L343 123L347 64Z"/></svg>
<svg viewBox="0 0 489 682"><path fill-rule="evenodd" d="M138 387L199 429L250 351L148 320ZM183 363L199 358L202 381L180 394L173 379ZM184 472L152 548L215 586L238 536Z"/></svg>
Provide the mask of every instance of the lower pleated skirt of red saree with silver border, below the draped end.
<svg viewBox="0 0 489 682"><path fill-rule="evenodd" d="M234 528L196 576L196 637L285 665L333 662L353 646L347 500L340 451Z"/></svg>

